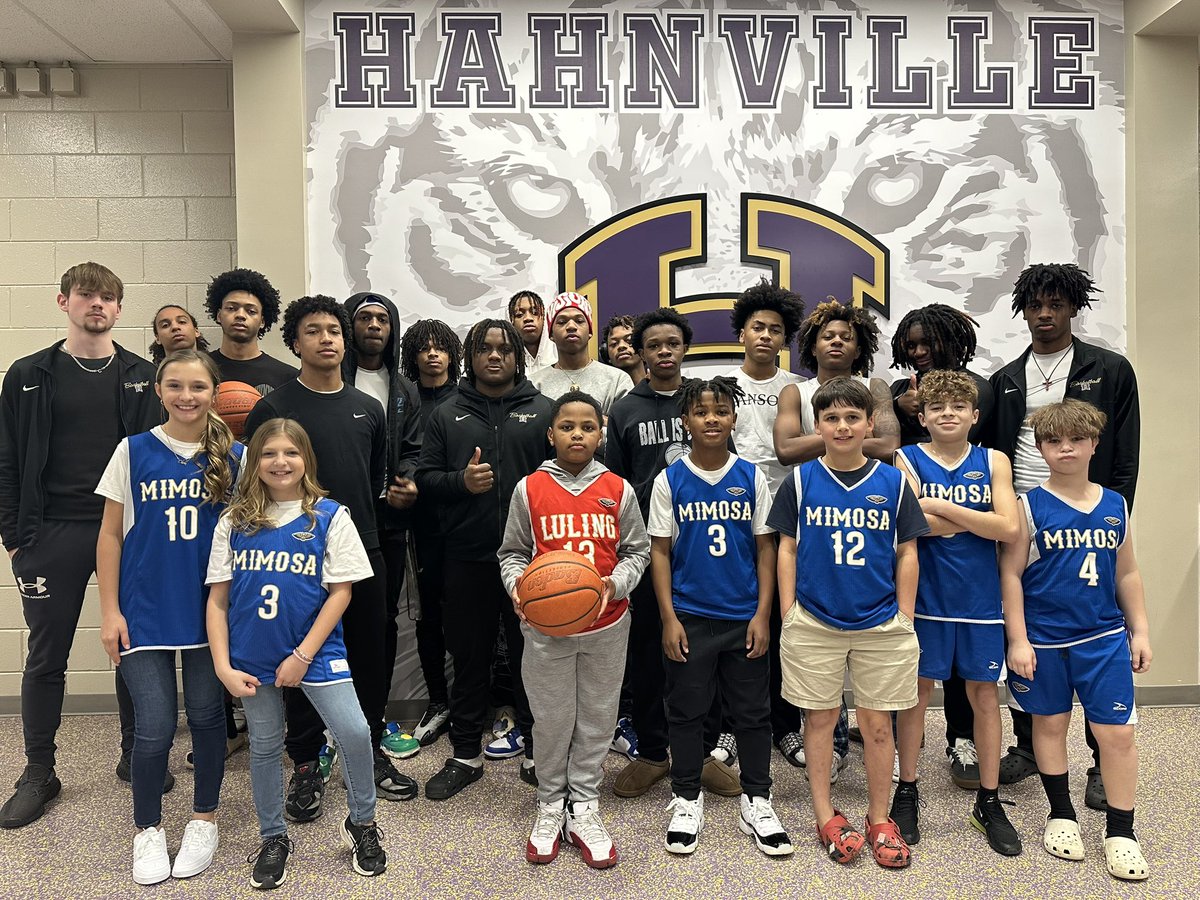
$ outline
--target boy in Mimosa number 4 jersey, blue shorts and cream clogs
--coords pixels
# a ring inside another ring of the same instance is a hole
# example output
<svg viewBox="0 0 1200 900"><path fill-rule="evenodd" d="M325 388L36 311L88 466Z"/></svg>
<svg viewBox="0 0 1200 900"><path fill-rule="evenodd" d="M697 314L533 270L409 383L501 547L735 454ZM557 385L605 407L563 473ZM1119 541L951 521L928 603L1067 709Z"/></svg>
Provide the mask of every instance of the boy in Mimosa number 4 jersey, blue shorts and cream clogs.
<svg viewBox="0 0 1200 900"><path fill-rule="evenodd" d="M1104 413L1070 398L1030 416L1050 478L1021 497L1020 534L1000 557L1009 702L1033 716L1033 752L1050 800L1043 845L1082 859L1067 780L1067 728L1079 695L1108 791L1109 874L1141 881L1148 869L1133 830L1133 673L1150 670L1152 653L1128 504L1088 478L1104 422Z"/></svg>

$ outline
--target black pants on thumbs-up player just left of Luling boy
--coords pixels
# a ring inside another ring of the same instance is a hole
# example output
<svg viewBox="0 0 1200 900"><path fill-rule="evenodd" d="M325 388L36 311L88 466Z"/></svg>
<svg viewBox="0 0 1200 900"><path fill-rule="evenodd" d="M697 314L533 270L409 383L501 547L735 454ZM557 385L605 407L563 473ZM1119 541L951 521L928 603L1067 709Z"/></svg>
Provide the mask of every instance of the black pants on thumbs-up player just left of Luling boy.
<svg viewBox="0 0 1200 900"><path fill-rule="evenodd" d="M503 624L512 674L512 706L517 726L526 739L526 757L533 758L533 714L521 680L521 620L512 599L504 590L498 562L448 559L445 564L446 647L454 660L450 685L450 744L460 760L474 760L482 750L482 733L488 724L488 683L496 637Z"/></svg>

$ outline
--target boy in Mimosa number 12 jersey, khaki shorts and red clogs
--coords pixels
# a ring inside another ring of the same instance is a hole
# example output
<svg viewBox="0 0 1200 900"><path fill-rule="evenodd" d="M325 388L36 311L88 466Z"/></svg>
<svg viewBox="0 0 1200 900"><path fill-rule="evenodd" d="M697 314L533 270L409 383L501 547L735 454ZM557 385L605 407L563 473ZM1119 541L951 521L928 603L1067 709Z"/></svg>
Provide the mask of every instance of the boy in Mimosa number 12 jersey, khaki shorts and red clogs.
<svg viewBox="0 0 1200 900"><path fill-rule="evenodd" d="M889 713L917 702L916 539L929 534L929 526L904 475L863 454L874 408L870 389L859 382L834 378L821 385L812 412L826 454L792 472L769 524L780 534L784 697L805 710L821 842L834 862L850 863L869 840L876 863L899 869L908 865L910 851L888 816L895 755ZM847 668L866 762L865 839L829 800L833 730Z"/></svg>

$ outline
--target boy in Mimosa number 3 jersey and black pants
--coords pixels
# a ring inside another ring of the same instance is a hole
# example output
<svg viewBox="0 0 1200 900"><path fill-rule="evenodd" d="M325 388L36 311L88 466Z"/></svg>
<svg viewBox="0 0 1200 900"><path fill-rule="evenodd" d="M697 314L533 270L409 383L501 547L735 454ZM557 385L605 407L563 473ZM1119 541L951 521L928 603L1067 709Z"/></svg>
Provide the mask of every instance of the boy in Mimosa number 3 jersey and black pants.
<svg viewBox="0 0 1200 900"><path fill-rule="evenodd" d="M743 396L730 378L682 388L691 451L655 476L650 499L650 571L667 658L672 853L695 852L704 829L703 724L718 682L740 746L738 827L767 856L792 852L770 804L770 490L754 463L728 450Z"/></svg>

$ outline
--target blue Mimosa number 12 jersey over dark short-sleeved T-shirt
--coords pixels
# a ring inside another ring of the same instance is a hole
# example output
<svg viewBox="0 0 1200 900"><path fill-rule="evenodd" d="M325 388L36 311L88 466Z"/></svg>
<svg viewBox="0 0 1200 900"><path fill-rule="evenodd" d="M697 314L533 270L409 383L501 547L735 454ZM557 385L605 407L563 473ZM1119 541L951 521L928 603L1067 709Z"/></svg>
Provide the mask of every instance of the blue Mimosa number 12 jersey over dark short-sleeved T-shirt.
<svg viewBox="0 0 1200 900"><path fill-rule="evenodd" d="M896 546L929 533L904 474L877 460L853 472L823 457L793 469L770 523L796 538L796 600L847 631L896 614Z"/></svg>

